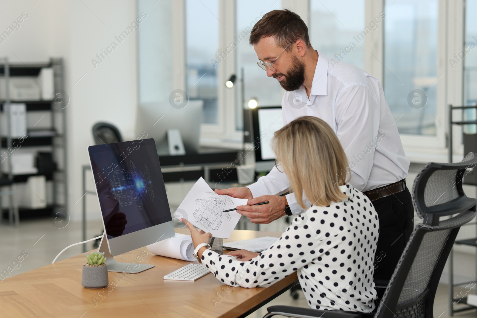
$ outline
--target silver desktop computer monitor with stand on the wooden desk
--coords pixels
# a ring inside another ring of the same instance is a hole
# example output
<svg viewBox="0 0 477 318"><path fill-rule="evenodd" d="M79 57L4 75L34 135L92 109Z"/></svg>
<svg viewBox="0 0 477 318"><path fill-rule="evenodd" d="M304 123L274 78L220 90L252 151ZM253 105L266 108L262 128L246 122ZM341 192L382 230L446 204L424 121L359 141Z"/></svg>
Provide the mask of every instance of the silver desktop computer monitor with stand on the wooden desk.
<svg viewBox="0 0 477 318"><path fill-rule="evenodd" d="M98 251L105 252L108 270L154 267L131 270L133 264L113 258L175 235L154 139L99 144L88 152L105 230Z"/></svg>

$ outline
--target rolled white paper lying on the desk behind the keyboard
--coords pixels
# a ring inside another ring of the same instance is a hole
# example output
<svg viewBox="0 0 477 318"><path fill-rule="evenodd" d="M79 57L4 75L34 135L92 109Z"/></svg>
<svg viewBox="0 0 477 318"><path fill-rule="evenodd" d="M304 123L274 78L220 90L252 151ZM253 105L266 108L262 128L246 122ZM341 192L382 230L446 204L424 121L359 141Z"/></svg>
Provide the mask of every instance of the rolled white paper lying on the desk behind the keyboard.
<svg viewBox="0 0 477 318"><path fill-rule="evenodd" d="M176 233L175 236L149 244L146 248L152 254L160 256L183 259L186 261L196 260L194 255L192 255L192 252L194 252L194 246L192 245L192 238L190 235Z"/></svg>

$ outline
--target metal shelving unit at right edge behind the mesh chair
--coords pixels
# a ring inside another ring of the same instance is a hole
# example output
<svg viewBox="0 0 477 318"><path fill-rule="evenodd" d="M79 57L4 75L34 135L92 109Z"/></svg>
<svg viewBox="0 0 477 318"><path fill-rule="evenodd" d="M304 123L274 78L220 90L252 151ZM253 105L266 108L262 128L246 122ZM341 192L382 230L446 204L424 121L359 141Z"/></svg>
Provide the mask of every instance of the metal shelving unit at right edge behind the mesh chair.
<svg viewBox="0 0 477 318"><path fill-rule="evenodd" d="M466 110L472 110L474 109L476 112L477 112L477 105L474 105L474 106L453 106L453 105L449 105L449 153L448 153L448 160L449 160L449 163L452 162L452 128L453 128L453 125L460 125L460 126L463 126L463 125L476 125L476 128L477 128L477 120L465 120L465 115L464 115L464 111ZM453 120L453 111L454 110L461 110L461 116L460 116L460 120L458 121L454 121ZM477 145L476 145L477 146ZM474 169L477 169L474 168ZM466 178L464 177L464 180L462 182L464 185L475 185L475 184L469 184L469 183L466 183ZM466 226L468 225L476 225L477 226L477 222L474 222L474 223L467 223ZM477 233L477 227L476 227L476 233ZM470 238L470 239L465 239L465 240L458 240L458 241L455 241L454 244L458 244L458 245L466 245L466 246L474 246L474 247L477 247L477 238ZM453 250L451 250L451 254L449 256L449 297L450 297L450 304L449 304L449 315L450 316L454 316L454 313L456 312L461 312L461 311L467 311L467 310L473 310L473 309L477 309L476 306L472 306L472 305L467 305L467 297L461 297L461 298L455 298L454 297L454 287L459 287L459 286L468 286L470 283L472 283L472 281L470 282L463 282L463 283L459 283L459 284L455 284L454 283L454 253L453 253ZM476 253L476 256L477 256L477 253ZM477 261L476 261L476 264L477 264ZM476 274L475 274L475 277L477 277L477 266L476 266ZM467 292L467 290L466 290ZM455 309L454 306L456 304L459 304L459 305L462 305L460 308L457 308Z"/></svg>

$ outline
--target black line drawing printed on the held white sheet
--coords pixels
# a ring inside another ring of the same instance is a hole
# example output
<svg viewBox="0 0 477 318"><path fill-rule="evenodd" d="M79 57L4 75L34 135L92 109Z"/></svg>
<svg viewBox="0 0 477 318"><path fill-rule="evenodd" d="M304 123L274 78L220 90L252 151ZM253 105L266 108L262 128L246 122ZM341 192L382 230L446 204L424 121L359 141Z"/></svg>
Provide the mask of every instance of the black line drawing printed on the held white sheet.
<svg viewBox="0 0 477 318"><path fill-rule="evenodd" d="M217 230L222 224L221 219L230 221L228 212L222 213L227 205L233 205L233 201L227 196L217 195L214 192L206 192L208 199L197 199L194 201L199 207L193 213L197 222L208 230Z"/></svg>

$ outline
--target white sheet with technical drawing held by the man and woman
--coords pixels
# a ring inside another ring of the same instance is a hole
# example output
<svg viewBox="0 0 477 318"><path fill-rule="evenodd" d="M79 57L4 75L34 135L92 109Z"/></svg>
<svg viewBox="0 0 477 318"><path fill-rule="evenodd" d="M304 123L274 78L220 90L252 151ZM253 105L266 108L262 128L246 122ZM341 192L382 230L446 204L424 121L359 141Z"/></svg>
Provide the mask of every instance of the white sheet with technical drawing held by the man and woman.
<svg viewBox="0 0 477 318"><path fill-rule="evenodd" d="M174 216L185 218L214 237L228 238L239 222L237 211L224 212L237 205L247 205L247 199L216 194L201 177L190 189Z"/></svg>

